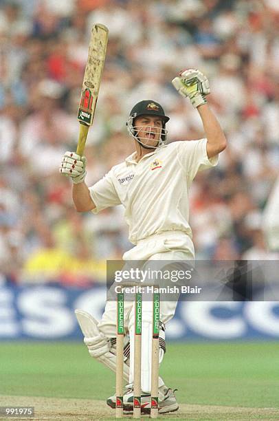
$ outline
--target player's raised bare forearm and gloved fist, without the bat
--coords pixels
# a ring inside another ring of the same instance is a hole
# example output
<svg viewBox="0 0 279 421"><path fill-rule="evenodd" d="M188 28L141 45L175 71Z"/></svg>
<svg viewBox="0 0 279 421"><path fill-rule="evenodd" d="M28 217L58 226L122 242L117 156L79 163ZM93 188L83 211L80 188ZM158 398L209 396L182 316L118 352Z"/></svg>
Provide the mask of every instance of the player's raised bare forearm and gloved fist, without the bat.
<svg viewBox="0 0 279 421"><path fill-rule="evenodd" d="M172 84L179 94L188 97L192 106L199 111L208 139L206 147L208 158L223 151L227 146L225 135L205 98L210 94L208 78L197 69L186 69L172 80Z"/></svg>

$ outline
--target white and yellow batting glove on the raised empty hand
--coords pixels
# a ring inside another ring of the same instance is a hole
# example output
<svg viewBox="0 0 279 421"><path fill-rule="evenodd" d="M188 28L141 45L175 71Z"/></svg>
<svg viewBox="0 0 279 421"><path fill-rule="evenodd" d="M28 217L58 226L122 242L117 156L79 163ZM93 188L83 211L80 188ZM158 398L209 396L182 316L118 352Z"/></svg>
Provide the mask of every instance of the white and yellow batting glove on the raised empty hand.
<svg viewBox="0 0 279 421"><path fill-rule="evenodd" d="M197 69L186 69L172 80L172 85L179 94L190 98L193 107L206 104L206 95L210 94L208 78Z"/></svg>

